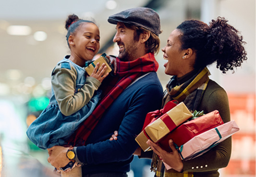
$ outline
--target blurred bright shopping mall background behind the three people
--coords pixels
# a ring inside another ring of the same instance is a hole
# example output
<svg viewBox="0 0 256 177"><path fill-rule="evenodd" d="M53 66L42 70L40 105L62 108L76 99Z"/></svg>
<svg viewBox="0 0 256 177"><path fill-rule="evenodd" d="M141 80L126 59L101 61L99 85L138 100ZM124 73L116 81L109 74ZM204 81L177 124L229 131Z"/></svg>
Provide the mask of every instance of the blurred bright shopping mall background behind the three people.
<svg viewBox="0 0 256 177"><path fill-rule="evenodd" d="M187 19L208 23L225 17L247 42L248 60L227 74L209 70L210 78L228 93L231 118L240 131L232 136L232 157L220 177L255 177L256 172L256 2L255 0L1 0L0 1L0 177L54 177L48 153L26 137L27 126L48 105L50 74L66 54L64 22L69 14L95 19L100 29L100 53L117 55L112 43L115 25L110 15L134 7L158 12L164 47L171 31ZM158 77L165 88L160 51ZM129 177L153 177L150 160L134 158Z"/></svg>

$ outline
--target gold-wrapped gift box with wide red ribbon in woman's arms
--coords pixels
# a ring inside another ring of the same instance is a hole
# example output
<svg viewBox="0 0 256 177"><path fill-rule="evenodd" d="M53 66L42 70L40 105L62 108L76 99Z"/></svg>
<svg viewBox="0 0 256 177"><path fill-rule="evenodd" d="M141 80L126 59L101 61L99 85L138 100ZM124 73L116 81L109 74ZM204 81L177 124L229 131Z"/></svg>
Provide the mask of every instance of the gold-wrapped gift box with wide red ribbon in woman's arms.
<svg viewBox="0 0 256 177"><path fill-rule="evenodd" d="M148 139L157 143L166 134L170 133L177 126L192 116L192 113L188 110L185 104L181 102L154 122L147 125L135 140L140 145L141 149L146 152L150 149L146 143Z"/></svg>

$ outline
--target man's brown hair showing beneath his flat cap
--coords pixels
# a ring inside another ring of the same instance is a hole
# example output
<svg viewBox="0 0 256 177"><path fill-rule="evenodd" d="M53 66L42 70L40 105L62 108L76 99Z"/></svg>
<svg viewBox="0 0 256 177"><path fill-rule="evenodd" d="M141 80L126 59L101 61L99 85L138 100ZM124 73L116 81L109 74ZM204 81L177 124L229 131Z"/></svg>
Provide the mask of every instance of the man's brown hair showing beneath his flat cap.
<svg viewBox="0 0 256 177"><path fill-rule="evenodd" d="M153 53L157 54L159 52L160 39L155 33L151 32L151 31L149 31L149 30L147 30L147 29L145 29L141 26L136 26L136 25L133 25L133 24L125 24L125 23L122 23L122 24L125 27L134 30L134 40L135 41L139 40L140 34L144 33L145 31L149 32L150 37L147 39L147 41L145 43L146 53L152 53L153 52Z"/></svg>

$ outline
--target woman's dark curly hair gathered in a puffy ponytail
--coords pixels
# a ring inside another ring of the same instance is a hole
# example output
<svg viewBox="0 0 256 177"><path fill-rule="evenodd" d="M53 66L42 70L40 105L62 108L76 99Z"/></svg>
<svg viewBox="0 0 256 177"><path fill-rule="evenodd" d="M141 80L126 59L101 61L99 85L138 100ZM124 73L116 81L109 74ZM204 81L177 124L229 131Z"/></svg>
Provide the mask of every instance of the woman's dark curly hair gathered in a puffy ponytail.
<svg viewBox="0 0 256 177"><path fill-rule="evenodd" d="M195 50L195 69L217 61L217 68L226 73L228 70L234 71L233 67L240 67L247 59L243 36L227 22L225 18L218 17L209 25L198 20L188 20L177 27L182 32L181 49Z"/></svg>

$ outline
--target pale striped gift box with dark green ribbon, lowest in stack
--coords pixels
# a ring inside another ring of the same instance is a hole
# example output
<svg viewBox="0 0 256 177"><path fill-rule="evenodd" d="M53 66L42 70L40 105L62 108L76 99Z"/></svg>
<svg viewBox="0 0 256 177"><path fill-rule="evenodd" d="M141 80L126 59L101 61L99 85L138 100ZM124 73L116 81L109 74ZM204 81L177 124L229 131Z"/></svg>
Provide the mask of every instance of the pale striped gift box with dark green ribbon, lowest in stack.
<svg viewBox="0 0 256 177"><path fill-rule="evenodd" d="M180 153L181 159L191 160L207 153L210 149L232 136L238 130L239 127L235 121L232 120L195 136L177 150ZM171 169L171 166L166 163L164 163L164 165L167 170Z"/></svg>

